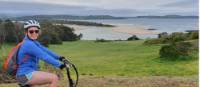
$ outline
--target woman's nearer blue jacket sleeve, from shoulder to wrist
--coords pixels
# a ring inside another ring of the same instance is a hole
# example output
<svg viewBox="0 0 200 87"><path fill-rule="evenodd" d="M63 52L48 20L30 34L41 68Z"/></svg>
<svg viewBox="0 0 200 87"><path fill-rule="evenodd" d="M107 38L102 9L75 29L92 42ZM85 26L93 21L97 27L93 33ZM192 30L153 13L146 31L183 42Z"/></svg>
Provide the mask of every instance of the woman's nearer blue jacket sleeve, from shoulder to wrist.
<svg viewBox="0 0 200 87"><path fill-rule="evenodd" d="M38 58L40 58L41 60L52 64L53 66L59 68L61 63L54 59L52 56L50 56L49 54L47 54L46 52L44 52L42 49L40 49L36 44L34 44L33 42L28 42L26 45L26 52L30 55L36 56Z"/></svg>

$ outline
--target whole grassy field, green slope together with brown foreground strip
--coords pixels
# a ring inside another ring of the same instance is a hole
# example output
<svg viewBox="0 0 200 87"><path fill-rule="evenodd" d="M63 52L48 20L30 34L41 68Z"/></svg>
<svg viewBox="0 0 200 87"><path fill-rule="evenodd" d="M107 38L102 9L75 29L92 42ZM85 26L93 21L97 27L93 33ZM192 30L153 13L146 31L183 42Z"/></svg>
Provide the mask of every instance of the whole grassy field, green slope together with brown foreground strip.
<svg viewBox="0 0 200 87"><path fill-rule="evenodd" d="M197 87L198 52L186 61L159 59L161 45L140 41L64 42L50 45L78 67L80 87ZM10 45L4 45L7 52ZM2 50L0 51L2 52ZM65 82L61 82L61 87ZM16 84L0 84L15 87ZM17 86L16 86L17 87Z"/></svg>

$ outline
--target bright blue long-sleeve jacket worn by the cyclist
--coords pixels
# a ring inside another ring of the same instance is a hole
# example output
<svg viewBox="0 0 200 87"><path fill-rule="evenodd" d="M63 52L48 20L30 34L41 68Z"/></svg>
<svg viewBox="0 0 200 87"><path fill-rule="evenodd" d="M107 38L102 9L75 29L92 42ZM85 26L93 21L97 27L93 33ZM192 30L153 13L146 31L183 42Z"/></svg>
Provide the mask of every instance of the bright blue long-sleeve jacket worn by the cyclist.
<svg viewBox="0 0 200 87"><path fill-rule="evenodd" d="M42 46L38 41L25 37L18 53L17 64L19 67L16 75L37 71L40 59L58 68L61 65L59 58L60 56Z"/></svg>

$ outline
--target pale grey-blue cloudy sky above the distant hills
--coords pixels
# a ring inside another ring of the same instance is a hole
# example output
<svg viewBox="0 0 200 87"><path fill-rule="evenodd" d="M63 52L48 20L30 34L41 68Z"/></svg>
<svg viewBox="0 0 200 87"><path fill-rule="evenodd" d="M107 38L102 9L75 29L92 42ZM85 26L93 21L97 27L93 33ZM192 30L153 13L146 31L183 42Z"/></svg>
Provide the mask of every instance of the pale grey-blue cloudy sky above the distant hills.
<svg viewBox="0 0 200 87"><path fill-rule="evenodd" d="M198 0L0 0L0 15L198 15Z"/></svg>

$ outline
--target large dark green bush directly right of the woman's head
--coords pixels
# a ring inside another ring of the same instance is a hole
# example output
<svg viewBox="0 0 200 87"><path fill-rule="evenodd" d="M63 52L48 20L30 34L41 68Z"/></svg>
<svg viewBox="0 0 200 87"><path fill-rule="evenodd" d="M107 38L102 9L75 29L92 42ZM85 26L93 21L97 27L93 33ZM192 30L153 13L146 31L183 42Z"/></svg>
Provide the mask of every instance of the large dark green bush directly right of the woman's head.
<svg viewBox="0 0 200 87"><path fill-rule="evenodd" d="M41 23L41 27L42 34L39 40L45 46L48 46L48 44L62 44L62 41L76 41L81 37L73 32L73 28L64 25L53 25L45 21Z"/></svg>

